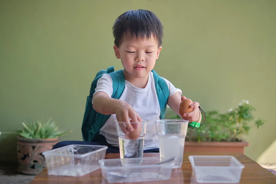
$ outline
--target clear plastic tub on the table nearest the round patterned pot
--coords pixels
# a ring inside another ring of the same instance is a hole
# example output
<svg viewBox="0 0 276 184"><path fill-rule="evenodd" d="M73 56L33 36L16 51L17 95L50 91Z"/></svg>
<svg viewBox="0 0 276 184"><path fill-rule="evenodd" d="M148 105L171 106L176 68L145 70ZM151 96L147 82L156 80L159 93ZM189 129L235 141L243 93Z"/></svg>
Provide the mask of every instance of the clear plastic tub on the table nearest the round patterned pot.
<svg viewBox="0 0 276 184"><path fill-rule="evenodd" d="M100 168L99 160L105 158L107 146L68 145L45 151L49 175L83 176Z"/></svg>

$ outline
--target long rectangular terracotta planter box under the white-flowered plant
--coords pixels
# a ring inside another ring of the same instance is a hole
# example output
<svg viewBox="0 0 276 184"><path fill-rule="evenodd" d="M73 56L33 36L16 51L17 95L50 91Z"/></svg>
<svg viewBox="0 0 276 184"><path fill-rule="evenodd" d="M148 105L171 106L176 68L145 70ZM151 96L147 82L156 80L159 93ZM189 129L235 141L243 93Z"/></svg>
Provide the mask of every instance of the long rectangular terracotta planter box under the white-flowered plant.
<svg viewBox="0 0 276 184"><path fill-rule="evenodd" d="M184 153L188 152L237 152L244 154L244 148L249 146L242 142L190 142L185 141Z"/></svg>

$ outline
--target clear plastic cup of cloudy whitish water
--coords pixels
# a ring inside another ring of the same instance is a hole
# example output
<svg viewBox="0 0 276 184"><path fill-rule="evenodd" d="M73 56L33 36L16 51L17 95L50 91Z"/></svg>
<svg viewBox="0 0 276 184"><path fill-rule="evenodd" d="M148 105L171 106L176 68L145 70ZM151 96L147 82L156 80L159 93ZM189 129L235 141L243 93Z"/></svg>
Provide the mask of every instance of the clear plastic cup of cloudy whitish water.
<svg viewBox="0 0 276 184"><path fill-rule="evenodd" d="M176 157L173 168L181 167L189 121L156 120L155 122L159 138L160 160Z"/></svg>

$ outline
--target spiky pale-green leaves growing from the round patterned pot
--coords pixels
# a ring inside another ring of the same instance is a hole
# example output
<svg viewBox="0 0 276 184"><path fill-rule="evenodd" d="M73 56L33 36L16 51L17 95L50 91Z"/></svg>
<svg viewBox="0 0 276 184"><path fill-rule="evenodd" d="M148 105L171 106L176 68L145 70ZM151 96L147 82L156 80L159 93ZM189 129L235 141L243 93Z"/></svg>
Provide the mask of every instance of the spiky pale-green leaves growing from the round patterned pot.
<svg viewBox="0 0 276 184"><path fill-rule="evenodd" d="M2 133L12 133L18 134L22 138L26 139L49 139L56 138L60 136L65 136L72 131L64 132L59 130L59 127L55 124L54 121L51 121L51 118L46 122L33 122L33 123L24 123L22 122L23 128L17 132L2 132ZM1 132L0 132L1 135Z"/></svg>

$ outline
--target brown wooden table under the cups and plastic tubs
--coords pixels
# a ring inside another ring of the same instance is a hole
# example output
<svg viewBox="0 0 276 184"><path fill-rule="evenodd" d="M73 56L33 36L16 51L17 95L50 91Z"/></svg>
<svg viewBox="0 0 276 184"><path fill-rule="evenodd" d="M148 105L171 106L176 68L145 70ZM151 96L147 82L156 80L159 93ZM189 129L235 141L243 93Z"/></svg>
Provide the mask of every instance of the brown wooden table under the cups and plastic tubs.
<svg viewBox="0 0 276 184"><path fill-rule="evenodd" d="M183 164L181 169L174 169L170 180L156 181L156 182L137 182L137 184L180 184L180 183L197 183L192 175L191 163L188 159L189 155L232 155L236 157L245 168L243 169L240 184L276 184L276 176L270 171L261 167L258 163L251 160L247 156L240 153L184 153ZM144 157L159 156L159 153L144 153ZM119 153L107 153L106 159L120 158ZM48 175L47 170L44 169L38 174L30 184L108 184L102 178L101 169L86 174L82 177L68 177L68 176L53 176Z"/></svg>

